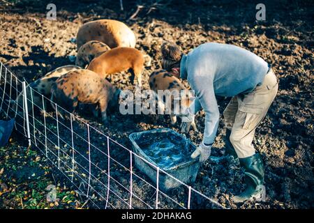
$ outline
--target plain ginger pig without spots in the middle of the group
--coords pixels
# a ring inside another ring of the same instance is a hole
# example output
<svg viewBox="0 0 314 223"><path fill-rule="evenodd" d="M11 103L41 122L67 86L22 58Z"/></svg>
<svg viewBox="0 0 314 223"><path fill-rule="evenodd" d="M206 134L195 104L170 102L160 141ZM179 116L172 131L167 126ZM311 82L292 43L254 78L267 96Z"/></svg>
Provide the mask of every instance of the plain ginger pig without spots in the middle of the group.
<svg viewBox="0 0 314 223"><path fill-rule="evenodd" d="M131 82L134 84L134 78L137 79L138 86L142 86L142 72L144 71L144 62L148 55L143 55L138 49L130 47L117 47L96 57L89 66L88 70L93 70L104 78L117 72L129 70L131 73ZM150 58L148 66L150 65Z"/></svg>

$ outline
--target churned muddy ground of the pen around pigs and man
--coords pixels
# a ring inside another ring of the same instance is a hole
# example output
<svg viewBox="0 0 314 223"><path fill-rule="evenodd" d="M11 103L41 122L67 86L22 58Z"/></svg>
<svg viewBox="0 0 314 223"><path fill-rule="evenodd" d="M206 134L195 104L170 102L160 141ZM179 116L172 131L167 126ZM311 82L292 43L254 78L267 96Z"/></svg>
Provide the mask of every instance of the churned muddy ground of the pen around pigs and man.
<svg viewBox="0 0 314 223"><path fill-rule="evenodd" d="M124 2L124 11L120 10L119 1L117 3L54 2L57 5L57 21L46 20L46 1L13 1L12 4L1 5L0 61L15 75L24 77L27 82L59 66L73 64L68 58L76 54L76 45L71 38L75 38L78 28L84 22L102 18L126 22L137 36L136 47L151 56L152 65L144 72L146 89L149 88L147 83L149 74L160 68L160 44L163 40L174 41L185 52L207 42L234 44L251 50L271 63L280 81L279 91L267 117L257 128L254 139L255 148L262 154L266 164L266 201L246 202L242 205L232 203L232 194L243 188L241 183L244 178L243 171L228 159L220 163L209 160L200 169L197 180L192 186L227 208L313 208L313 3L311 1L293 3L264 1L267 18L263 22L255 21L256 3L245 3L245 1L160 1L158 4L147 1L141 3L144 8L134 20L128 18L133 15L140 1ZM112 76L111 81L122 89L133 90L127 74ZM219 98L220 112L229 100ZM107 126L98 124L93 118L84 120L128 148L131 147L128 135L132 132L154 128L172 128L179 131L179 124L172 126L168 116L123 116L115 113L110 116L110 125ZM53 119L48 122L52 121ZM197 115L197 125L202 132L204 112ZM75 128L78 132L81 131L79 124ZM81 134L86 133L86 130L82 131ZM200 132L190 131L188 137L198 144L202 140ZM223 154L224 136L225 128L221 120L213 155ZM18 141L18 138L20 137L13 137L13 141ZM99 139L94 140L100 144ZM15 149L15 146L8 146L8 150L15 151ZM66 151L68 152L70 151ZM117 157L121 155L122 162L127 163L125 157L128 157L128 153L120 152L117 148ZM106 162L105 159L105 161L101 160L101 157L98 157L100 167L101 162ZM103 168L105 169L105 164ZM114 176L119 178L122 184L128 185L128 176L119 174L117 171L119 167L115 172L114 167L112 169ZM98 174L103 176L101 172ZM3 175L1 181L8 184L10 178L4 178ZM64 181L61 176L60 179L61 182ZM106 181L103 183L106 184ZM146 188L147 190L142 192L141 188L145 188L145 184L135 181L134 186L135 192L143 199L149 200L154 197L154 190ZM118 185L113 187L117 187L119 191ZM122 192L123 190L121 194ZM184 188L179 188L170 191L169 194L170 197L181 202L186 201L186 197L181 196L184 192L186 192ZM117 208L126 208L123 202L115 200L112 202ZM193 208L214 208L211 203L197 196L191 204ZM89 205L91 208L94 207L89 203L85 207ZM3 207L10 208L10 204ZM144 208L136 201L135 207ZM172 206L170 202L165 203L163 207L177 206Z"/></svg>

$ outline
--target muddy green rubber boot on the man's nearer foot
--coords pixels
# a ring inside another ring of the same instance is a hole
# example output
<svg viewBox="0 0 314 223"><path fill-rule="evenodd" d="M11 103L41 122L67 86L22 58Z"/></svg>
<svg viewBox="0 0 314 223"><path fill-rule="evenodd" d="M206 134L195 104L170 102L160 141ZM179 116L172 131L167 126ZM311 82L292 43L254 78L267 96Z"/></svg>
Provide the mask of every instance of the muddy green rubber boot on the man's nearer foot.
<svg viewBox="0 0 314 223"><path fill-rule="evenodd" d="M265 201L266 191L264 183L264 164L260 153L240 160L241 167L244 167L246 189L241 194L234 196L235 203L244 201Z"/></svg>

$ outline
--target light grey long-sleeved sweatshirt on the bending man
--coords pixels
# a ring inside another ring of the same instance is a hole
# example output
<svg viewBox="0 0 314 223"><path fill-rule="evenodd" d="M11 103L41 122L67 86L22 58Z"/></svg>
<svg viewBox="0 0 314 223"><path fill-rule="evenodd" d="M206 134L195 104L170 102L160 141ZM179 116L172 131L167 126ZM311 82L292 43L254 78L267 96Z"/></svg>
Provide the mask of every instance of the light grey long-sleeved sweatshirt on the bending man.
<svg viewBox="0 0 314 223"><path fill-rule="evenodd" d="M267 70L266 61L234 45L204 43L182 57L180 77L188 80L196 95L189 112L203 108L206 114L204 144L214 143L216 137L219 110L215 95L251 92L262 83Z"/></svg>

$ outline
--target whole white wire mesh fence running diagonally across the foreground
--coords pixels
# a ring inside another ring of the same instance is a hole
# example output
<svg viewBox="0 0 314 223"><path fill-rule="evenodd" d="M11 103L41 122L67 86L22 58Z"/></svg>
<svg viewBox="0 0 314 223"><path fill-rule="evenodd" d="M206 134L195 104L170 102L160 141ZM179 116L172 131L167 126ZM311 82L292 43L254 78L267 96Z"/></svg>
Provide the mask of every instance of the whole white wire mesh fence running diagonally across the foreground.
<svg viewBox="0 0 314 223"><path fill-rule="evenodd" d="M91 208L225 208L52 102L0 63L0 111ZM64 118L59 117L64 114ZM134 157L156 169L156 185L134 167ZM159 190L160 174L180 183Z"/></svg>

